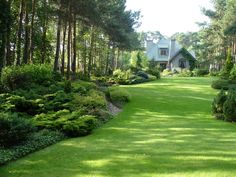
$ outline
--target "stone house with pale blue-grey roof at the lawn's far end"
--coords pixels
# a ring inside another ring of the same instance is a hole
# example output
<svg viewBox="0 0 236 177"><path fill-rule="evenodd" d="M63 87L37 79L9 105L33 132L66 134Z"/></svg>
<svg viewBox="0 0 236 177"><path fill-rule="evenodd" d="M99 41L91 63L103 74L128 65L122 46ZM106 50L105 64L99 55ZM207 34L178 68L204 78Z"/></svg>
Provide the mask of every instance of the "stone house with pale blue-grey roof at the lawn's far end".
<svg viewBox="0 0 236 177"><path fill-rule="evenodd" d="M196 61L194 53L183 48L175 39L147 40L146 55L149 61L154 61L162 69L172 71L192 70Z"/></svg>

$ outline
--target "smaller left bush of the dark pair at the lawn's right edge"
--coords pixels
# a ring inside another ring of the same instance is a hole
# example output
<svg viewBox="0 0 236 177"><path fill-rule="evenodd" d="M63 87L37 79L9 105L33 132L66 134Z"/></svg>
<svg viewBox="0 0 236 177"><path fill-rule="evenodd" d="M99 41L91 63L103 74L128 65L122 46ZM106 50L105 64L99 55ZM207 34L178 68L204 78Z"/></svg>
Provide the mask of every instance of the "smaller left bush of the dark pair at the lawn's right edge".
<svg viewBox="0 0 236 177"><path fill-rule="evenodd" d="M227 99L226 92L224 90L221 90L212 102L212 113L218 119L224 119L223 105L226 99Z"/></svg>

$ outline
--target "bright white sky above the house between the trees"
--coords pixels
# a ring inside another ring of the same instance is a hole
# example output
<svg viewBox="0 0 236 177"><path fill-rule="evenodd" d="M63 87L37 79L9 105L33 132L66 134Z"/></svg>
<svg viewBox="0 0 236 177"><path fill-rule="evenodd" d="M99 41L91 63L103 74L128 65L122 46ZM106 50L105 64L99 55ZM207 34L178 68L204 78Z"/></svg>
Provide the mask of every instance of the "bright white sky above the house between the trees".
<svg viewBox="0 0 236 177"><path fill-rule="evenodd" d="M142 25L137 31L160 31L171 36L176 32L194 32L196 22L208 21L201 7L212 9L210 0L126 0L127 10L140 10Z"/></svg>

